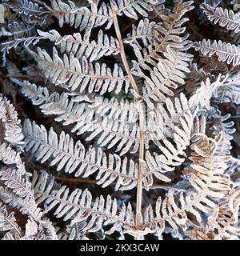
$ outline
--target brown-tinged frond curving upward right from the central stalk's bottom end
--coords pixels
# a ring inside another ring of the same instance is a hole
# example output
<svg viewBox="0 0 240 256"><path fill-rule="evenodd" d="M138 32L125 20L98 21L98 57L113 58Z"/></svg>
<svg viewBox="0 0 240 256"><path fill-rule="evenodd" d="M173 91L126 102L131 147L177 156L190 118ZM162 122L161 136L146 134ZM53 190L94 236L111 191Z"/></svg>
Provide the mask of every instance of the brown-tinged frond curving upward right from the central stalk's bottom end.
<svg viewBox="0 0 240 256"><path fill-rule="evenodd" d="M155 206L156 217L152 206L146 208L143 226L151 230L158 226L158 232L162 234L167 222L174 233L178 234L178 226L182 230L187 228L187 212L194 214L197 221L201 222L201 212L210 214L214 211L218 206L214 198L223 198L232 186L230 177L224 174L226 157L214 156L219 139L206 138L203 134L198 136L198 144L193 145L195 152L190 158L193 164L190 170L184 171L185 175L190 175L189 182L194 191L185 197L180 193L178 205L171 192L164 200L158 198Z"/></svg>

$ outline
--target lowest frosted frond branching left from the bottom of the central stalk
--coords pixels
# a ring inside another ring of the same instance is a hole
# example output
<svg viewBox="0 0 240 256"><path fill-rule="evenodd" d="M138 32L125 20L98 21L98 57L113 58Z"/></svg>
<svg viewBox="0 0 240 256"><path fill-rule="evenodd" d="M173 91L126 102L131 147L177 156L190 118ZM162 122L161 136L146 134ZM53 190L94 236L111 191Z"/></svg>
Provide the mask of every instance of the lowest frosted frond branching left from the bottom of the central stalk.
<svg viewBox="0 0 240 256"><path fill-rule="evenodd" d="M88 232L96 232L102 228L102 225L109 224L113 226L106 231L106 234L112 234L115 230L121 231L122 228L130 230L134 227L134 213L130 203L128 206L123 203L118 210L117 200L110 198L110 195L106 200L100 195L92 202L92 195L88 190L76 189L70 192L69 188L62 186L59 190L51 191L52 185L47 184L48 175L42 175L39 179L35 176L33 188L35 198L40 198L38 203L45 202L45 213L54 208L54 215L57 218L64 216L65 221L71 220L71 225L88 220L88 224L83 229Z"/></svg>

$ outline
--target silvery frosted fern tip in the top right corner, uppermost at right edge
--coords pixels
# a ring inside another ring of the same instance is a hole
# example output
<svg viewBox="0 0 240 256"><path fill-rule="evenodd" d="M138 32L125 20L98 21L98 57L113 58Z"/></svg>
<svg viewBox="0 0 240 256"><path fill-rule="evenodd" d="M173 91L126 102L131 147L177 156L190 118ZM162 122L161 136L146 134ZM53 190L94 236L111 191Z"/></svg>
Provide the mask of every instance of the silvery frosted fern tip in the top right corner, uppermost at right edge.
<svg viewBox="0 0 240 256"><path fill-rule="evenodd" d="M233 10L222 9L222 7L213 8L209 5L202 4L203 12L206 14L210 22L226 26L227 30L234 30L235 33L240 31L240 14L234 14Z"/></svg>

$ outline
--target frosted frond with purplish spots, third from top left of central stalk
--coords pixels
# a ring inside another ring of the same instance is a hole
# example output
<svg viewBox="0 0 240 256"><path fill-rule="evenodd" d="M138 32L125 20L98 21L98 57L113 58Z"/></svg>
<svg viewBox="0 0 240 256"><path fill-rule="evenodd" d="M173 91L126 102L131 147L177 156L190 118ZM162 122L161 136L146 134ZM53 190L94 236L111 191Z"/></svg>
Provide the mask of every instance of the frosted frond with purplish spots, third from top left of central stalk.
<svg viewBox="0 0 240 256"><path fill-rule="evenodd" d="M72 91L78 89L82 93L87 88L89 93L99 91L100 94L104 94L106 91L115 90L115 93L118 94L123 86L127 91L130 85L129 78L126 78L117 64L114 65L112 71L105 63L93 65L85 57L82 58L82 63L80 63L72 53L69 57L64 54L62 60L55 48L53 59L45 50L38 48L37 61L39 69L46 78L57 85L67 82L67 88Z"/></svg>

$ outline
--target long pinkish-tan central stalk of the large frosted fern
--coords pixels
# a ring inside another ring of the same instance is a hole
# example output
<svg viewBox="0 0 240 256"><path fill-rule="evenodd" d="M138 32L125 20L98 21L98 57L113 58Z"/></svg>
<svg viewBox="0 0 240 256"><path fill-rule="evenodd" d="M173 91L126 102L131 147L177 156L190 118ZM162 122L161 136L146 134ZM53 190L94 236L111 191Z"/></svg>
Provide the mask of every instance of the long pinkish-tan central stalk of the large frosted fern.
<svg viewBox="0 0 240 256"><path fill-rule="evenodd" d="M134 91L138 93L138 87L134 80L133 75L130 72L130 67L126 60L126 54L124 51L124 46L122 43L122 36L118 26L118 18L116 15L116 11L114 6L111 5L113 20L114 20L114 28L117 34L119 46L120 46L120 54L122 58L123 65L125 67L126 73L130 78L130 83L133 86ZM144 157L144 127L145 127L145 118L144 111L142 107L142 103L138 100L138 111L139 111L139 125L140 125L140 146L139 146L139 164L138 164L138 187L137 187L137 207L136 207L136 230L140 230L141 217L142 217L142 162Z"/></svg>

